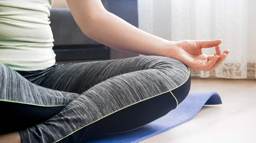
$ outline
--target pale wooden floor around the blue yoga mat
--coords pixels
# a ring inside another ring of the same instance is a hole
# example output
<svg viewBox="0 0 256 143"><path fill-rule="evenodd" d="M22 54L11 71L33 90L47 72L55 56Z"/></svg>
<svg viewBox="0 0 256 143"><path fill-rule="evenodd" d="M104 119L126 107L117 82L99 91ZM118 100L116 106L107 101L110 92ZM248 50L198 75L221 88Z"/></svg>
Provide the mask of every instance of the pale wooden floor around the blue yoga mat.
<svg viewBox="0 0 256 143"><path fill-rule="evenodd" d="M191 92L215 91L223 104L141 143L256 143L256 80L192 79Z"/></svg>

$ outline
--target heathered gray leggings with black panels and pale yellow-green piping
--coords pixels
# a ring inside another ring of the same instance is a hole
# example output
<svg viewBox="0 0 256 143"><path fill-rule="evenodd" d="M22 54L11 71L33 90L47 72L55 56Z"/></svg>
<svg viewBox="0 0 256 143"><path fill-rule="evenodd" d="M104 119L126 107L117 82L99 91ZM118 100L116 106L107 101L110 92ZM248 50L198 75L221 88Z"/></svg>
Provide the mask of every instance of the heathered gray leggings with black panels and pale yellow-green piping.
<svg viewBox="0 0 256 143"><path fill-rule="evenodd" d="M189 89L188 68L160 56L40 71L0 64L0 134L19 131L23 143L84 143L166 115Z"/></svg>

